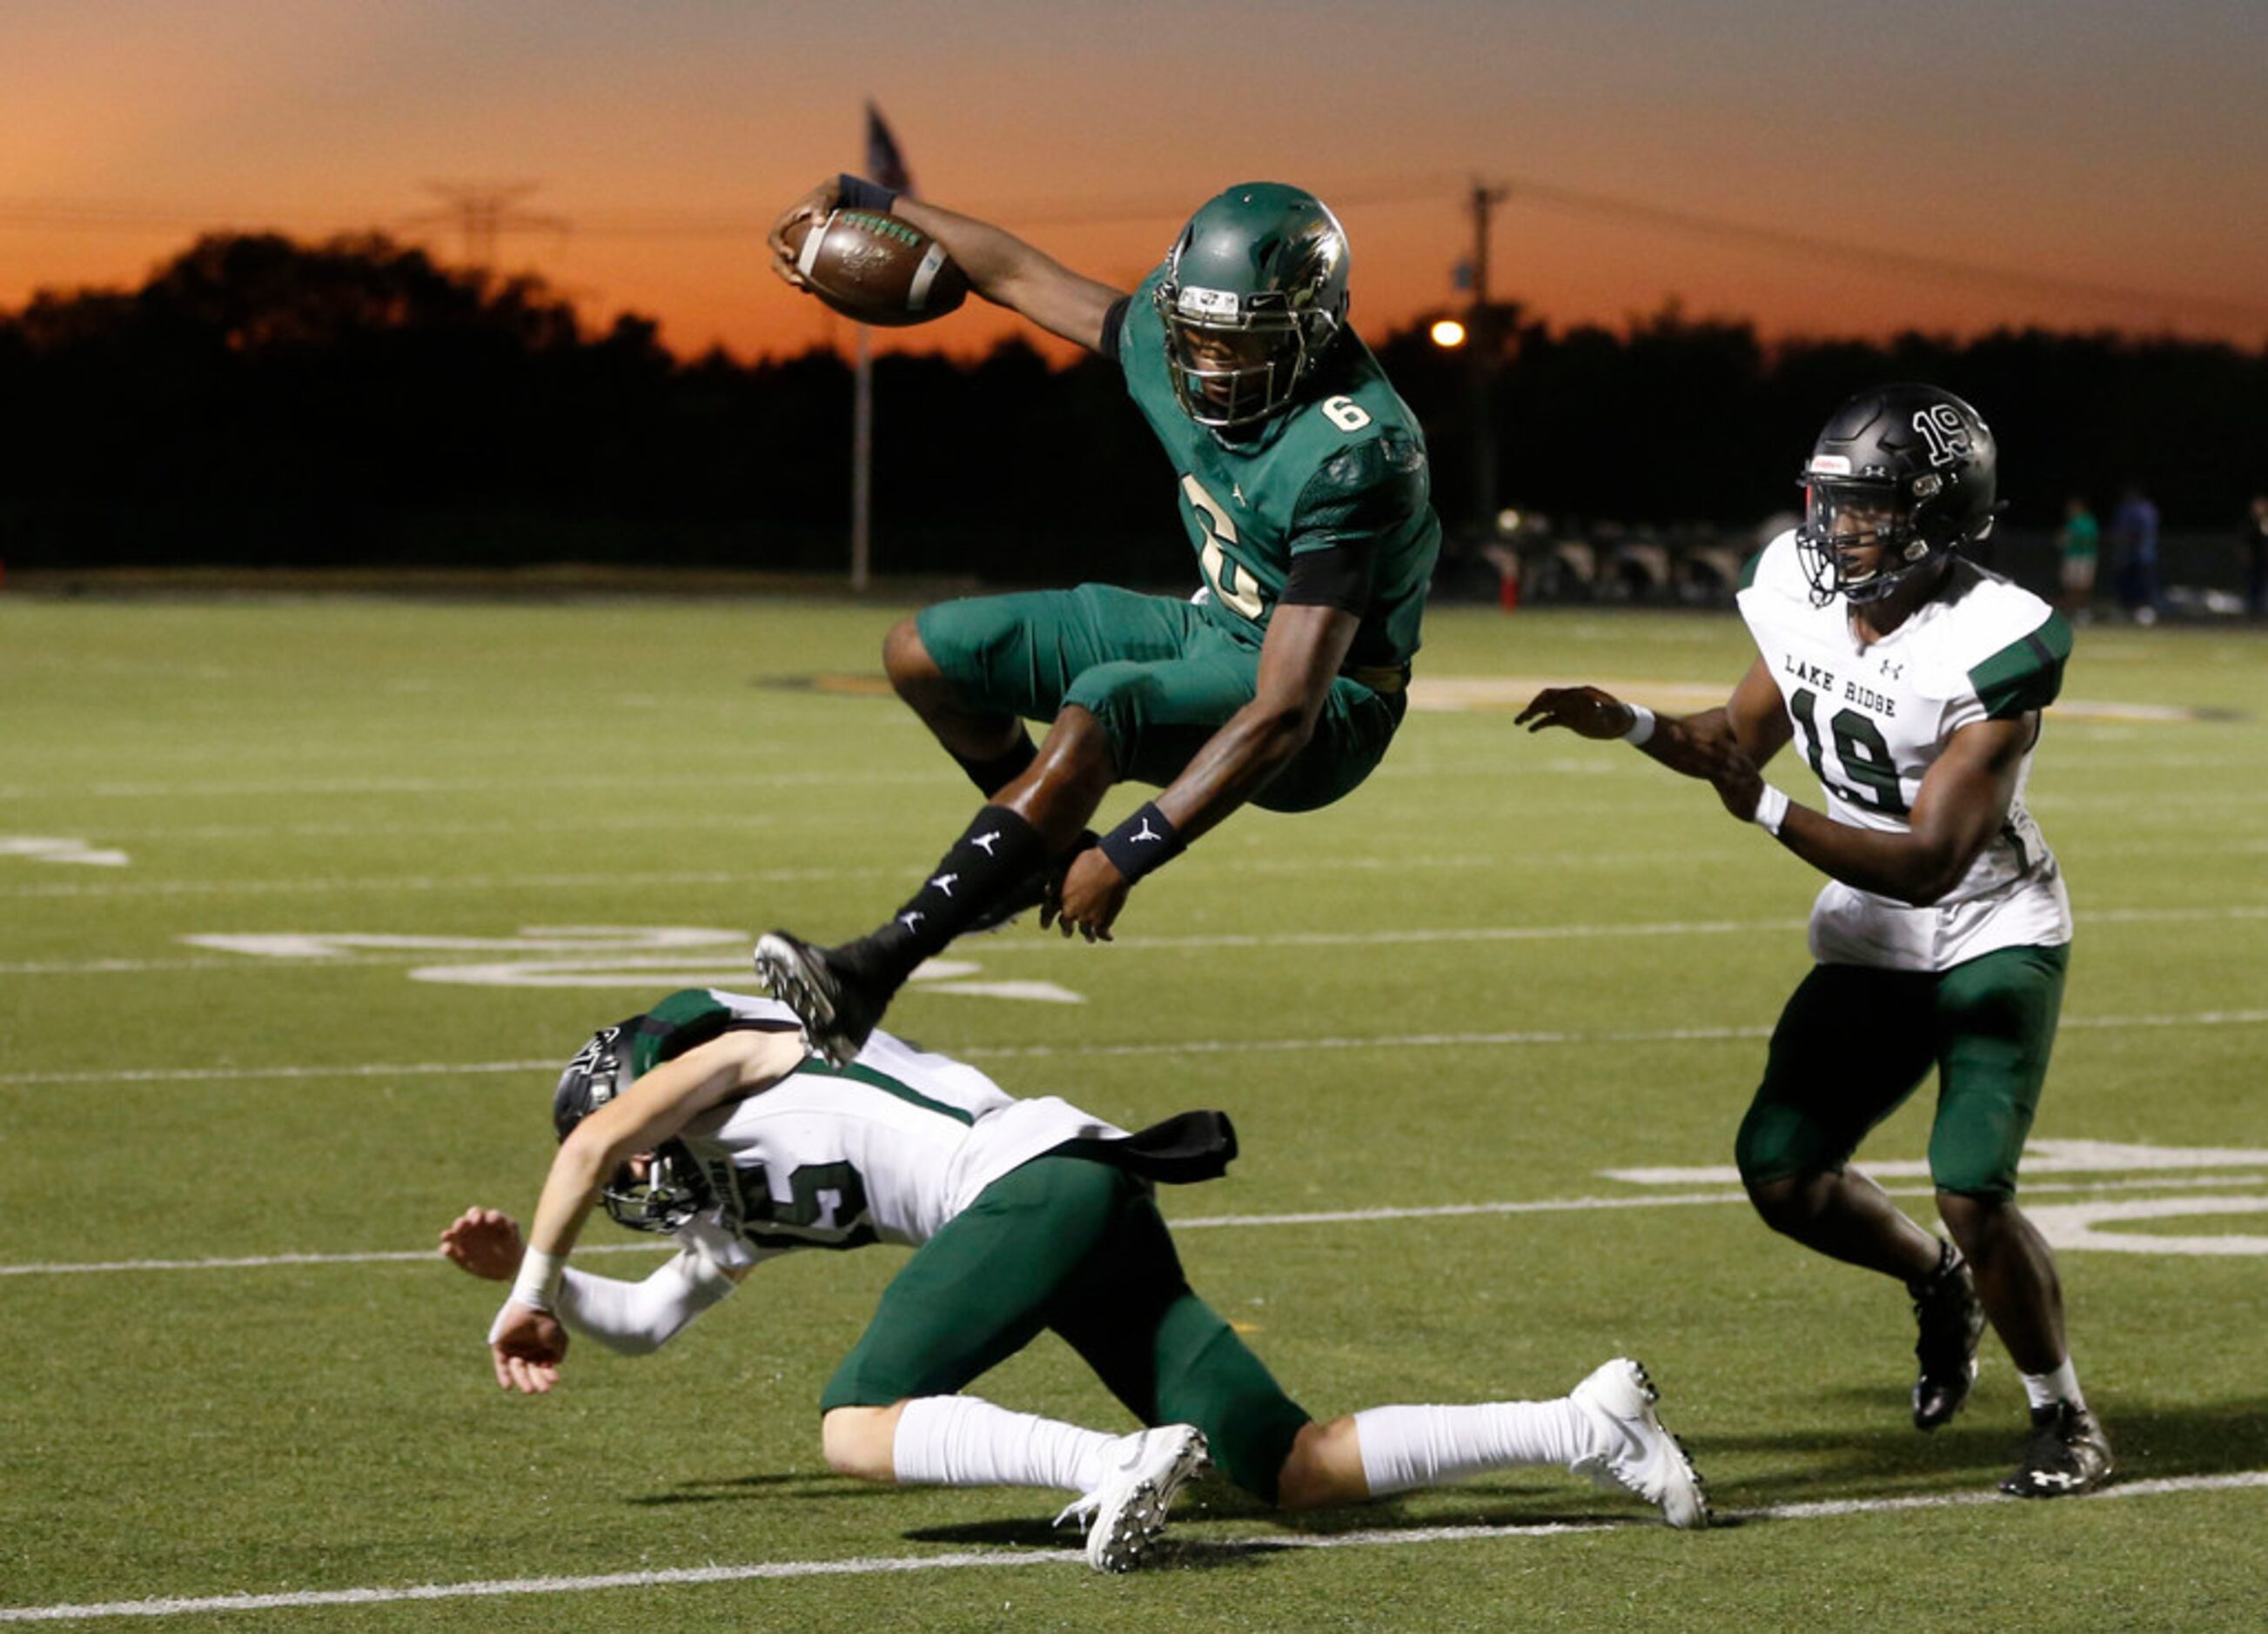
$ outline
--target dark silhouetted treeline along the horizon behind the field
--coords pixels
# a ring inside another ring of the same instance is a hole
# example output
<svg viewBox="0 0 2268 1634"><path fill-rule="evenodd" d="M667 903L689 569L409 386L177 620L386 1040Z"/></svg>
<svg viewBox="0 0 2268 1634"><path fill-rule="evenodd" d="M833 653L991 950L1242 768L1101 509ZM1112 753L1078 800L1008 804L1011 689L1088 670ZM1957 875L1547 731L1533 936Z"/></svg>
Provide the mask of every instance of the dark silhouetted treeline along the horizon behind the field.
<svg viewBox="0 0 2268 1634"><path fill-rule="evenodd" d="M1767 344L1674 306L1622 331L1501 306L1486 329L1499 503L1569 528L1749 530L1796 503L1826 415L1892 378L1984 412L2019 528L2139 483L2168 528L2218 533L2268 490L2268 349L2039 329ZM1365 338L1427 426L1442 519L1472 533L1467 354L1422 326ZM0 313L0 560L837 569L850 397L832 351L676 358L644 317L594 329L540 279L383 236L215 233L138 290ZM873 528L882 573L1188 576L1173 471L1116 367L1014 340L875 363Z"/></svg>

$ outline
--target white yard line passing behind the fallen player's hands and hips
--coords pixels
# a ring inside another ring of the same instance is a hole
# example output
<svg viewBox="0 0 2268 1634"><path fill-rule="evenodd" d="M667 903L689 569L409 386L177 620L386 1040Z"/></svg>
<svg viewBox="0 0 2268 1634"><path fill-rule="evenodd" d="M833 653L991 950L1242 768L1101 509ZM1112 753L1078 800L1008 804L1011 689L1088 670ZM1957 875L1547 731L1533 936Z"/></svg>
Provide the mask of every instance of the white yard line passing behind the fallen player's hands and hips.
<svg viewBox="0 0 2268 1634"><path fill-rule="evenodd" d="M2202 1174L2141 1181L2028 1181L2025 1197L2039 1192L2177 1192L2220 1190L2229 1185L2263 1185L2263 1174ZM1928 1197L1926 1185L1887 1185L1892 1197ZM1703 1203L1746 1203L1746 1192L1640 1192L1635 1197L1535 1197L1499 1203L1429 1203L1413 1208L1334 1208L1297 1215L1186 1215L1168 1217L1173 1231L1222 1231L1254 1226L1365 1226L1388 1219L1458 1219L1474 1215L1569 1215L1603 1208L1694 1208ZM667 1253L662 1242L601 1242L576 1253ZM433 1249L356 1249L347 1253L247 1253L209 1260L52 1260L45 1265L0 1265L0 1276L100 1276L107 1271L265 1271L293 1265L406 1265L440 1262Z"/></svg>

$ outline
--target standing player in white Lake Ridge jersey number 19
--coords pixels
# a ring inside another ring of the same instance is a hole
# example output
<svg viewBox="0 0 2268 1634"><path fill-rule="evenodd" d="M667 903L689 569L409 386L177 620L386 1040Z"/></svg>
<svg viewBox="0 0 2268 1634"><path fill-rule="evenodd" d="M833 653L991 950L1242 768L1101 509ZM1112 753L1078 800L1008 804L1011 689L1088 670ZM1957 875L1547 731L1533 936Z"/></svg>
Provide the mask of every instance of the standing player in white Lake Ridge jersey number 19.
<svg viewBox="0 0 2268 1634"><path fill-rule="evenodd" d="M1803 526L1751 564L1740 612L1758 659L1721 709L1656 716L1597 687L1551 687L1517 718L1628 739L1710 780L1733 816L1828 875L1817 965L1740 1126L1742 1181L1776 1231L1907 1283L1916 1428L1960 1412L1991 1317L2032 1405L2000 1489L2055 1498L2112 1473L2064 1344L2055 1258L2016 1208L2071 945L2071 902L2023 784L2071 628L1960 555L1991 533L1996 465L1991 431L1950 392L1853 397L1805 462ZM1826 811L1762 782L1789 739ZM1932 1063L1930 1178L1950 1244L1848 1167Z"/></svg>

